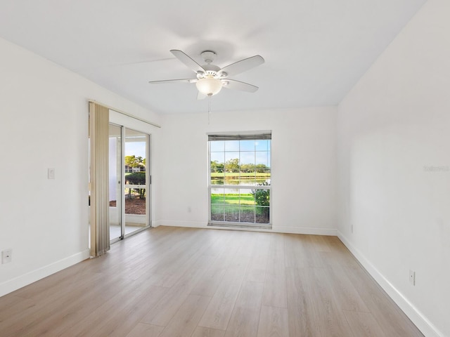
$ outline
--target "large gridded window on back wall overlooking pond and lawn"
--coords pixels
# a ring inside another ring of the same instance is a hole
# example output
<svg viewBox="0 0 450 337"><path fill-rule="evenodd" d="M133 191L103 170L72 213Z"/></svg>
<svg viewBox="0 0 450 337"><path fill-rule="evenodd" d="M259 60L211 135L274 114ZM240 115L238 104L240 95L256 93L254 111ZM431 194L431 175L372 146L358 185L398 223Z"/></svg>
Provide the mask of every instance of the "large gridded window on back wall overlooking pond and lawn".
<svg viewBox="0 0 450 337"><path fill-rule="evenodd" d="M271 132L208 140L210 225L271 227Z"/></svg>

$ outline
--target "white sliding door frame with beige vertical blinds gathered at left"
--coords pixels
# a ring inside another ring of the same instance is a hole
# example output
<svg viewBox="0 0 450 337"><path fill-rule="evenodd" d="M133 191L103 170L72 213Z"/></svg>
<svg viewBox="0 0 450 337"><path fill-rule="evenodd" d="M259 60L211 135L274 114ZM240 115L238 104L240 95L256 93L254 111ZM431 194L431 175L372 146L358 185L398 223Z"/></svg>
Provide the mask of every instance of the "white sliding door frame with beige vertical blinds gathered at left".
<svg viewBox="0 0 450 337"><path fill-rule="evenodd" d="M121 235L117 239L129 237L143 230L152 227L152 133L160 125L134 117L127 112L122 112L108 105L96 102L96 100L88 100L89 103L89 248L91 256L101 256L110 249L110 219L109 219L109 124L120 126L121 131L121 174L120 174L120 191L121 191L121 207L124 208L124 129L138 131L146 135L146 222L145 226L139 230L135 230L129 234L122 234L122 227L125 225L124 211L121 211ZM102 118L100 118L103 116ZM150 126L150 128L149 128ZM155 128L155 129L153 129ZM98 146L97 143L103 145ZM98 150L97 150L98 147ZM116 178L119 178L117 176ZM117 184L118 185L118 184ZM117 197L116 197L117 198Z"/></svg>

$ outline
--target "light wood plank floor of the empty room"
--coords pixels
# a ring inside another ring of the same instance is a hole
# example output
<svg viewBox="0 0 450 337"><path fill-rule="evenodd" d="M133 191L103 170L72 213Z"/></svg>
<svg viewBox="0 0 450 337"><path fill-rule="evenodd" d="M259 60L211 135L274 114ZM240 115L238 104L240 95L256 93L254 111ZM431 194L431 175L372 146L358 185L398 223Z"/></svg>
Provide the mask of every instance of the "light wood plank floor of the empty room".
<svg viewBox="0 0 450 337"><path fill-rule="evenodd" d="M423 336L336 237L157 227L0 298L0 336Z"/></svg>

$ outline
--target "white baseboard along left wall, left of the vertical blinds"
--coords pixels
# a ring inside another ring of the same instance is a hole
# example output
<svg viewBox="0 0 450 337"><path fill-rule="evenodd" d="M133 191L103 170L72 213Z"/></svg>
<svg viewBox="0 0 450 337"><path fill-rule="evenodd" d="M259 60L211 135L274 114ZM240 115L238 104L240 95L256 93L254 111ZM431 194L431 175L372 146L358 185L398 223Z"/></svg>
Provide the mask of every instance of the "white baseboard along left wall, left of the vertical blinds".
<svg viewBox="0 0 450 337"><path fill-rule="evenodd" d="M58 260L37 270L33 270L32 272L27 272L25 275L20 275L10 279L0 284L0 296L4 296L7 293L11 293L22 288L23 286L39 281L39 279L43 279L44 277L52 275L55 272L59 272L60 270L70 267L71 265L75 265L76 263L86 260L86 258L89 258L89 249L69 256L68 258Z"/></svg>

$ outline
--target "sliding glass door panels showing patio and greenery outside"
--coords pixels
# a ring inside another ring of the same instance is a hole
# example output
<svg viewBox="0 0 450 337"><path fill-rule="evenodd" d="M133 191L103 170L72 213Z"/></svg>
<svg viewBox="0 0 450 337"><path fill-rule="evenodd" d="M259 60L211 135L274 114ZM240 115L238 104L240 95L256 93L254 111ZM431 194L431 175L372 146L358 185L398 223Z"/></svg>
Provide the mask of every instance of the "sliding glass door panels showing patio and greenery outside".
<svg viewBox="0 0 450 337"><path fill-rule="evenodd" d="M110 241L150 227L150 136L109 128Z"/></svg>

